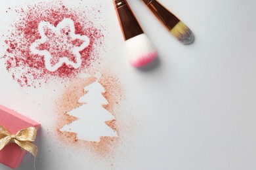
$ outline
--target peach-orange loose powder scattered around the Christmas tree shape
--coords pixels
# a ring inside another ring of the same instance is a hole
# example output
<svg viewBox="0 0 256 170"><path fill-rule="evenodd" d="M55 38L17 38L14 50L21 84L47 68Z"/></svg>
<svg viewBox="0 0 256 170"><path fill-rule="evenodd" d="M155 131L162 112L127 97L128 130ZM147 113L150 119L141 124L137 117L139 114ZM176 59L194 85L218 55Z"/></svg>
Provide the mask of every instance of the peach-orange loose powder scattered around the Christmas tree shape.
<svg viewBox="0 0 256 170"><path fill-rule="evenodd" d="M100 142L96 143L91 141L81 141L77 139L76 133L60 131L60 128L64 125L77 120L77 118L70 116L67 112L81 105L81 103L78 103L77 101L79 97L86 94L86 92L83 91L85 86L88 86L95 81L96 78L93 76L90 78L79 78L66 88L66 92L64 92L61 99L57 101L58 109L56 112L58 112L58 118L56 132L59 140L65 145L74 146L79 150L85 148L96 154L96 156L104 157L113 154L114 148L119 141L119 137L100 137ZM117 117L119 112L115 112L116 108L119 107L119 101L124 99L123 90L119 84L118 78L110 73L104 73L98 82L100 82L106 91L102 93L102 95L107 99L108 105L103 105L103 107ZM119 135L121 125L117 119L105 123L117 131L117 134Z"/></svg>

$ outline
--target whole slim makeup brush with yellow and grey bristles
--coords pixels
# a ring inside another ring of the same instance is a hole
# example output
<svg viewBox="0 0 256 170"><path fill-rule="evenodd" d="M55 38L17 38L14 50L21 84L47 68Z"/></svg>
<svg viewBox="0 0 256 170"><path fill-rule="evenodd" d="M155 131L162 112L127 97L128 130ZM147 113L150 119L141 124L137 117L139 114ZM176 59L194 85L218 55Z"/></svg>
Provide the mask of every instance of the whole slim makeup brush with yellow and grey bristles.
<svg viewBox="0 0 256 170"><path fill-rule="evenodd" d="M160 22L183 44L191 44L194 41L192 31L174 14L167 10L156 0L142 0L155 14Z"/></svg>

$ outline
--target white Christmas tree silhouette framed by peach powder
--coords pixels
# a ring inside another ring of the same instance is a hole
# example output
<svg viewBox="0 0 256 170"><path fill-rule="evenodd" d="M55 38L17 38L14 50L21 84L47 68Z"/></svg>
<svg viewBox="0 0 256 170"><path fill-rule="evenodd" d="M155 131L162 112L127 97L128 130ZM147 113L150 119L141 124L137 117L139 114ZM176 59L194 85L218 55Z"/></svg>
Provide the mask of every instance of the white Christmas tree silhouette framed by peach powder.
<svg viewBox="0 0 256 170"><path fill-rule="evenodd" d="M106 124L115 117L102 106L108 104L102 95L102 92L105 92L104 87L96 80L84 90L87 93L78 100L82 105L68 112L78 120L60 130L77 133L77 139L84 141L100 142L100 137L117 137L116 131Z"/></svg>

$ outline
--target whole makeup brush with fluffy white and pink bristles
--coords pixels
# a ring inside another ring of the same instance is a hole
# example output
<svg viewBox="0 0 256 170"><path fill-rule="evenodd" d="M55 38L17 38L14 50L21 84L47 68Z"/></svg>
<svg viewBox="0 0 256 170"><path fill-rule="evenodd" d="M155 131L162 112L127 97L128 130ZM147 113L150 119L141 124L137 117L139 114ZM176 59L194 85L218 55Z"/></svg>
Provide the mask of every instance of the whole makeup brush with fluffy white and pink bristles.
<svg viewBox="0 0 256 170"><path fill-rule="evenodd" d="M158 56L158 50L145 35L127 1L114 0L114 5L123 31L129 62L134 67L150 63Z"/></svg>

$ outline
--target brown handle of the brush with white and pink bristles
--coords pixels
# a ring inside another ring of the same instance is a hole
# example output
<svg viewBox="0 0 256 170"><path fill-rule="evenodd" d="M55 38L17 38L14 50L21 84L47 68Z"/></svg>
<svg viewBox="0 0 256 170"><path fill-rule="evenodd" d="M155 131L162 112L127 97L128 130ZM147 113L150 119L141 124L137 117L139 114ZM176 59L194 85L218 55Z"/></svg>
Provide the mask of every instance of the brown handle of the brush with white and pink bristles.
<svg viewBox="0 0 256 170"><path fill-rule="evenodd" d="M123 29L125 41L144 33L127 1L114 0L114 4L116 6L117 16L119 16L119 24L121 29Z"/></svg>

